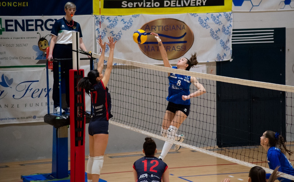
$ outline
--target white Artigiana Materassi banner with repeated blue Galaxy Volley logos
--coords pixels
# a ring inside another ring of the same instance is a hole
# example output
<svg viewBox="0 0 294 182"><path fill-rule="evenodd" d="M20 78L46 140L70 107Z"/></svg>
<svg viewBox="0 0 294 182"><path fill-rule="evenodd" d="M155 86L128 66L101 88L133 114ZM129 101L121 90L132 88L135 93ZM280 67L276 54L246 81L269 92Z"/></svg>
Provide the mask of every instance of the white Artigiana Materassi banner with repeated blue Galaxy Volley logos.
<svg viewBox="0 0 294 182"><path fill-rule="evenodd" d="M198 62L231 59L231 12L160 17L148 14L95 16L96 36L101 36L104 42L108 42L108 36L118 41L116 47L119 49L114 52L114 57L148 64L163 64L158 43L151 32L160 34L171 64L194 52ZM137 29L143 29L148 34L144 44L133 41L133 33ZM99 49L97 44L97 52ZM106 47L106 54L108 51Z"/></svg>

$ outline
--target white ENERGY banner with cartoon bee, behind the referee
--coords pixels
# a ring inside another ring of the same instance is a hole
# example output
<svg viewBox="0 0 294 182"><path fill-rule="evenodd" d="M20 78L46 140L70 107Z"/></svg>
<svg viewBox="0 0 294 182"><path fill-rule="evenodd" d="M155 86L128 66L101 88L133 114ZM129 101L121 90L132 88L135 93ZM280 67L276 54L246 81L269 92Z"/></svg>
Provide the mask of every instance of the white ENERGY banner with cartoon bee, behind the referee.
<svg viewBox="0 0 294 182"><path fill-rule="evenodd" d="M61 18L63 16L0 17L0 68L44 66L52 26ZM87 50L93 51L93 16L75 15L73 19L81 25Z"/></svg>

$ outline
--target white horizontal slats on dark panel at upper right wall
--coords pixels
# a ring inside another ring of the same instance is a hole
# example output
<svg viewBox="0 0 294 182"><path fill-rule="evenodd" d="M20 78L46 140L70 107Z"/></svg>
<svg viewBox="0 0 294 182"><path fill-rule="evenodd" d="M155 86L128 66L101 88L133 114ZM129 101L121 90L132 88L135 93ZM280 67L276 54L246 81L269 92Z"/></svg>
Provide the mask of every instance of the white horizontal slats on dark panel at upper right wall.
<svg viewBox="0 0 294 182"><path fill-rule="evenodd" d="M274 29L233 30L232 44L274 43Z"/></svg>

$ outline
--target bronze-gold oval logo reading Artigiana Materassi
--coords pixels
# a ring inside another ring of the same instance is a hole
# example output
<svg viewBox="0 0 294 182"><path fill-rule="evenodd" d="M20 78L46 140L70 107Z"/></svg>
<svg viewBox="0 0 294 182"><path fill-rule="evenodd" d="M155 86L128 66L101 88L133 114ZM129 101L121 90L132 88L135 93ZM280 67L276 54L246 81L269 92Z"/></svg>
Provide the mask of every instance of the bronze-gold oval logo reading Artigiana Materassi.
<svg viewBox="0 0 294 182"><path fill-rule="evenodd" d="M141 27L148 36L144 44L139 44L141 51L148 57L162 60L159 52L158 42L151 32L155 32L161 38L168 59L176 59L183 56L194 42L192 30L186 23L178 19L163 18L156 19Z"/></svg>

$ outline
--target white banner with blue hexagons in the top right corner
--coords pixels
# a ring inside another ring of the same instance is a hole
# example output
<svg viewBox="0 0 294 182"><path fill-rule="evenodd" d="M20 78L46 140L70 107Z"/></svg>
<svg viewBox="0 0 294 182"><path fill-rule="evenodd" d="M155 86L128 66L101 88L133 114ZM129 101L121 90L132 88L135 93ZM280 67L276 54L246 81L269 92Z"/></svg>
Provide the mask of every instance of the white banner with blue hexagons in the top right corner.
<svg viewBox="0 0 294 182"><path fill-rule="evenodd" d="M233 0L232 10L246 11L289 11L294 10L293 0Z"/></svg>

